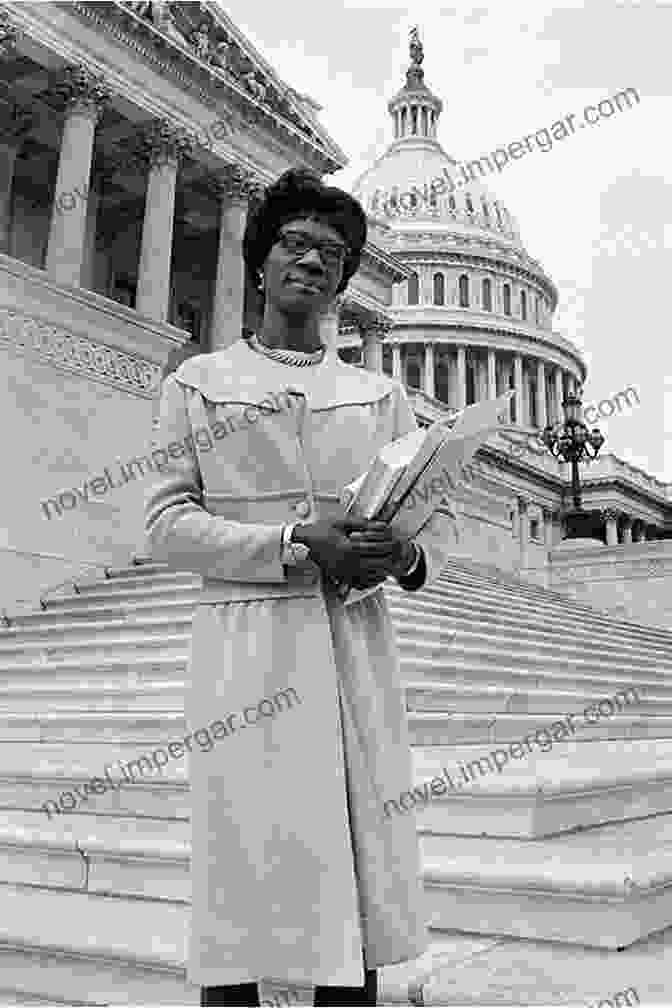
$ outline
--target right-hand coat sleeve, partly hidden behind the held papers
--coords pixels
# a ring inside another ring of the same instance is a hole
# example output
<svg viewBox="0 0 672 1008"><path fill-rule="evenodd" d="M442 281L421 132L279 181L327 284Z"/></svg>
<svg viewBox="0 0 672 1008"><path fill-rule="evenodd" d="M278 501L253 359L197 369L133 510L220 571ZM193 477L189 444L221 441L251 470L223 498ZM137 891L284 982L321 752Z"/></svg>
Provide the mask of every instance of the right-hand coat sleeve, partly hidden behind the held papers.
<svg viewBox="0 0 672 1008"><path fill-rule="evenodd" d="M418 427L406 390L401 384L396 388L395 439L410 430L417 430ZM441 504L441 510L434 511L420 531L413 536L413 541L421 547L423 558L412 575L407 579L399 579L399 585L409 592L416 592L435 581L449 557L454 555L455 543L459 541L458 517L454 505L450 502Z"/></svg>

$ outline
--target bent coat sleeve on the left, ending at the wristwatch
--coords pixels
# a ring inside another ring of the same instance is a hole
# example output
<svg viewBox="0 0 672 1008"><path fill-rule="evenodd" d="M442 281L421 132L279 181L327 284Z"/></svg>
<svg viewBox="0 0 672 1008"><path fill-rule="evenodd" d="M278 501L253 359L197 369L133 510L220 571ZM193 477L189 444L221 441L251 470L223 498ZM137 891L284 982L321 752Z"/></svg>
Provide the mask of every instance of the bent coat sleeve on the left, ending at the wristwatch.
<svg viewBox="0 0 672 1008"><path fill-rule="evenodd" d="M176 571L246 582L283 582L283 525L229 521L203 504L195 452L175 458L175 445L193 445L185 390L172 375L163 382L152 448L162 450L161 471L145 498L145 537L150 556ZM191 436L190 436L191 435ZM158 468L158 467L157 467Z"/></svg>

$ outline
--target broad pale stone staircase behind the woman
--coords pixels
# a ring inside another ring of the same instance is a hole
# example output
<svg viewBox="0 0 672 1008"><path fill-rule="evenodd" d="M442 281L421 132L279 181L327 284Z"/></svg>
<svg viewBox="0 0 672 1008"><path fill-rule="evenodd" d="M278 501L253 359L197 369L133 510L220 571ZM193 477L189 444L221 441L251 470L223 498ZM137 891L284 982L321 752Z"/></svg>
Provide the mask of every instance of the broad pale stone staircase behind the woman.
<svg viewBox="0 0 672 1008"><path fill-rule="evenodd" d="M83 787L186 732L198 588L137 563L0 628L0 1003L198 1003L183 762ZM464 561L386 592L431 948L382 971L380 1003L672 1002L672 633Z"/></svg>

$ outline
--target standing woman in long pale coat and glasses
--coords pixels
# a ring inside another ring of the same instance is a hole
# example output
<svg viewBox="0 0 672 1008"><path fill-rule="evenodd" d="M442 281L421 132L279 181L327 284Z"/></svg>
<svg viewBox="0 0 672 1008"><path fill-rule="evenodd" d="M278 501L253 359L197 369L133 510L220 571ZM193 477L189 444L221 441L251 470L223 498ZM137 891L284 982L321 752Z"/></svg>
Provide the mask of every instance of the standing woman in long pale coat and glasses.
<svg viewBox="0 0 672 1008"><path fill-rule="evenodd" d="M189 451L171 450L152 488L148 546L204 577L186 720L196 740L228 726L188 747L187 976L201 1004L258 1005L266 977L315 986L316 1005L373 1005L377 968L426 949L415 823L383 814L412 775L393 628L381 588L345 605L335 586L393 577L415 591L454 526L436 514L409 542L346 520L339 501L416 427L398 382L320 345L366 230L347 193L285 172L244 238L259 333L163 384L158 440ZM290 692L290 708L269 699Z"/></svg>

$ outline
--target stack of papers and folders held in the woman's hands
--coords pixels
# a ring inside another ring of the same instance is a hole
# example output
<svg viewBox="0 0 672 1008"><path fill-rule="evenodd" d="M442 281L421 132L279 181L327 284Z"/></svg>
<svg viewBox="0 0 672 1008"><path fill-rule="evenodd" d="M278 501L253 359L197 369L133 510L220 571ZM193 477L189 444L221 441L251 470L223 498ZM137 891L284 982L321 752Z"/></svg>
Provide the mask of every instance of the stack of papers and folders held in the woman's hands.
<svg viewBox="0 0 672 1008"><path fill-rule="evenodd" d="M514 390L466 406L446 420L411 430L386 445L366 473L344 487L341 501L352 518L389 522L408 538L426 525L441 500L454 496L464 467L490 433L510 422ZM352 590L351 602L378 590ZM342 585L345 601L350 587Z"/></svg>

